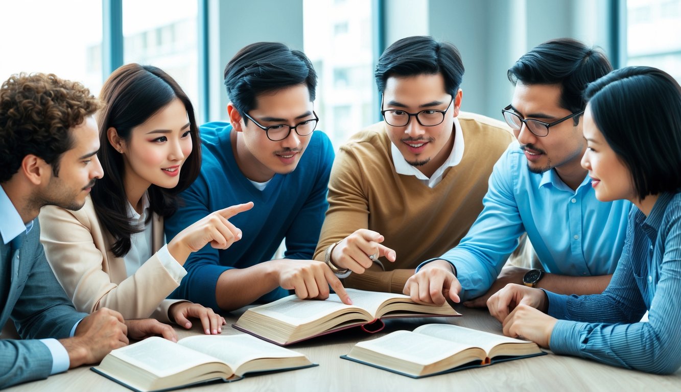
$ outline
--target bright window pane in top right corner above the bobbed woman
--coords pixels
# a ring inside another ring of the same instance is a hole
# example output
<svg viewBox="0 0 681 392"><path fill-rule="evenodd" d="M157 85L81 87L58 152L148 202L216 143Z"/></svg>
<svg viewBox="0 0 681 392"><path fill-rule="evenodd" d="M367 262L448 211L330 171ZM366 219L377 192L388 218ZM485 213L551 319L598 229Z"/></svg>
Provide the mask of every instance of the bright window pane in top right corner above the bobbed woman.
<svg viewBox="0 0 681 392"><path fill-rule="evenodd" d="M681 0L627 1L627 65L648 65L681 81Z"/></svg>

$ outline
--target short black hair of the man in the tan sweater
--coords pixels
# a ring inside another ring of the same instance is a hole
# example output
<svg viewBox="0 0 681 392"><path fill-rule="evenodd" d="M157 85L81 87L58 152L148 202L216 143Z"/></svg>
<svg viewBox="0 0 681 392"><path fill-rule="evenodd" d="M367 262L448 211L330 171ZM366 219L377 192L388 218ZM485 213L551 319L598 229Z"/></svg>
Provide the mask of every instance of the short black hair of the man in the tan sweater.
<svg viewBox="0 0 681 392"><path fill-rule="evenodd" d="M456 95L464 77L464 64L456 46L437 42L432 37L415 36L398 39L381 54L374 77L379 94L391 76L435 75L445 79L445 91Z"/></svg>

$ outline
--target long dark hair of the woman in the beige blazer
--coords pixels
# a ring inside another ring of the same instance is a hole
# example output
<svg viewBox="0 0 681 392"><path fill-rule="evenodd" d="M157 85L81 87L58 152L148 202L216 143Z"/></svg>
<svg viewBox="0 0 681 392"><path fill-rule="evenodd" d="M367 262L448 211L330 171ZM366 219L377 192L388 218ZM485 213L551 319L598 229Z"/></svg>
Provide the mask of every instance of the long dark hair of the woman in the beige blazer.
<svg viewBox="0 0 681 392"><path fill-rule="evenodd" d="M92 199L101 225L116 238L111 251L116 257L123 257L131 247L130 235L144 228L130 223L123 186L123 156L110 144L108 129L115 128L119 137L129 140L134 127L174 99L180 99L185 105L193 148L180 171L180 180L173 189L154 184L148 189L151 210L161 216L170 216L178 207L176 195L187 189L201 170L199 128L189 97L168 73L151 65L133 63L116 69L104 83L99 97L106 104L97 118L101 144L97 157L104 168L104 178L93 187Z"/></svg>

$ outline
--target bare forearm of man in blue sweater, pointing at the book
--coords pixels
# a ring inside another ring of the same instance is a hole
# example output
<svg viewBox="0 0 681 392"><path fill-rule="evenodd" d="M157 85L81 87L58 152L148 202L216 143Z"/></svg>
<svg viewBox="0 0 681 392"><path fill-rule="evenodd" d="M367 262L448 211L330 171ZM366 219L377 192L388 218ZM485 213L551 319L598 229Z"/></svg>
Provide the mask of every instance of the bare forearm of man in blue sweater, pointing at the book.
<svg viewBox="0 0 681 392"><path fill-rule="evenodd" d="M279 277L274 268L276 260L252 267L227 269L217 280L215 297L222 310L235 310L279 287Z"/></svg>

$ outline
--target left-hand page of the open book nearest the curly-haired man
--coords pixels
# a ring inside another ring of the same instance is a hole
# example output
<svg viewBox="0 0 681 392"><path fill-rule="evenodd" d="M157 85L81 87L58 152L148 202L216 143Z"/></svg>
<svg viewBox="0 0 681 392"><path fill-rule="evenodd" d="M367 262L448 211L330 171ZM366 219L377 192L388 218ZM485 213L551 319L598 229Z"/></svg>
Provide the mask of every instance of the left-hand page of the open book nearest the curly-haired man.
<svg viewBox="0 0 681 392"><path fill-rule="evenodd" d="M135 344L117 348L109 355L140 367L159 377L170 376L217 359L180 346L170 340L152 336Z"/></svg>

